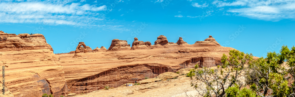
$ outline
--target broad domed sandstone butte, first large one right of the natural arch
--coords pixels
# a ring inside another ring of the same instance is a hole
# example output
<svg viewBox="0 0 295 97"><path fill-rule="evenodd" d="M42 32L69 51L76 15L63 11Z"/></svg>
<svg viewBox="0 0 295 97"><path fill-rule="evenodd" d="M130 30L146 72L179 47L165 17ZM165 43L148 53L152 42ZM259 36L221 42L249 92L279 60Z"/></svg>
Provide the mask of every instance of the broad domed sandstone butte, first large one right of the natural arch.
<svg viewBox="0 0 295 97"><path fill-rule="evenodd" d="M129 50L131 49L126 40L114 39L108 50Z"/></svg>

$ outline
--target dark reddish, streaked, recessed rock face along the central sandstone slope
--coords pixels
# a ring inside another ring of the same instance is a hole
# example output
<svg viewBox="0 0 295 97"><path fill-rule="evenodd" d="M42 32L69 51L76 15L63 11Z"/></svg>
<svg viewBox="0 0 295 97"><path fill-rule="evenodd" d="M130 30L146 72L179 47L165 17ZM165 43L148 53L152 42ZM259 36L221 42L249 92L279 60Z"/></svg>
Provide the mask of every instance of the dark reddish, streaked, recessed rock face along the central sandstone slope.
<svg viewBox="0 0 295 97"><path fill-rule="evenodd" d="M82 78L71 86L73 93L90 93L103 89L104 86L119 87L135 80L144 80L145 77L154 78L161 73L175 72L165 66L151 66L148 64L137 64L129 66L120 66L101 72L96 75ZM72 83L71 81L68 83Z"/></svg>

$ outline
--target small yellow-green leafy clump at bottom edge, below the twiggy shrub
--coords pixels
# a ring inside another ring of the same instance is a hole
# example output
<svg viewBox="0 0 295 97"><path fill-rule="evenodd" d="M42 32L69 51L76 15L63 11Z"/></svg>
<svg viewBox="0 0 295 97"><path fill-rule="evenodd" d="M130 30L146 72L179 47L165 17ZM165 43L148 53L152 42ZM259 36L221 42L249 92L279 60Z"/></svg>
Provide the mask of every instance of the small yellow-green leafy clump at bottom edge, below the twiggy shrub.
<svg viewBox="0 0 295 97"><path fill-rule="evenodd" d="M240 90L239 86L235 84L225 90L226 97L256 97L256 93L247 88Z"/></svg>

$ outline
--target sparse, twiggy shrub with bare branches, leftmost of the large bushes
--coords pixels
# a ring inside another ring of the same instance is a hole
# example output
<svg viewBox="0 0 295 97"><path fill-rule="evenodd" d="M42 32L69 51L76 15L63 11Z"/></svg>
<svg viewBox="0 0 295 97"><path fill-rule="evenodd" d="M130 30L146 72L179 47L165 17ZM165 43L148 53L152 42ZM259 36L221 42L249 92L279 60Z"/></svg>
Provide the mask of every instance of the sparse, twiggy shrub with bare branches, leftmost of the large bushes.
<svg viewBox="0 0 295 97"><path fill-rule="evenodd" d="M196 78L192 86L196 88L201 96L223 97L228 87L231 87L235 83L241 84L241 81L237 78L242 76L241 74L245 70L245 65L253 59L252 57L252 54L230 50L229 56L223 54L221 57L223 69L220 66L212 69L206 67L199 68L199 65L196 65L195 67L198 67L198 69L191 69L187 73L187 77Z"/></svg>

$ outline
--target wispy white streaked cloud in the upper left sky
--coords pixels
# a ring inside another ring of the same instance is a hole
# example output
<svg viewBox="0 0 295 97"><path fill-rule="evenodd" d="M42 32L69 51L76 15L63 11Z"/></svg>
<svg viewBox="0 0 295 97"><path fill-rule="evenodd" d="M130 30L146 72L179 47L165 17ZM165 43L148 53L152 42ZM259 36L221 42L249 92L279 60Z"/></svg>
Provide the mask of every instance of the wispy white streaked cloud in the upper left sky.
<svg viewBox="0 0 295 97"><path fill-rule="evenodd" d="M0 1L0 22L123 28L118 25L104 25L104 21L108 21L102 14L106 10L106 5L81 3L85 0L78 3L71 3L71 1L75 0L27 0L19 2L3 0Z"/></svg>

